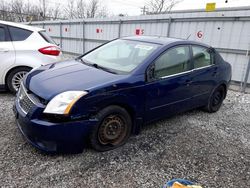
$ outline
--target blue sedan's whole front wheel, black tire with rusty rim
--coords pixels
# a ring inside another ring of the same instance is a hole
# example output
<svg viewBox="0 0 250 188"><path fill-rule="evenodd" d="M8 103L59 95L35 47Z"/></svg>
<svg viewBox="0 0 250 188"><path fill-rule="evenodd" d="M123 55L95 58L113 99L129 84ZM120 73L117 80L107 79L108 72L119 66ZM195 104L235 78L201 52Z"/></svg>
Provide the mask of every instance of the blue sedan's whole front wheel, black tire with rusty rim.
<svg viewBox="0 0 250 188"><path fill-rule="evenodd" d="M108 151L126 143L132 121L128 112L119 106L108 106L101 110L96 118L99 123L90 135L90 144L97 151Z"/></svg>

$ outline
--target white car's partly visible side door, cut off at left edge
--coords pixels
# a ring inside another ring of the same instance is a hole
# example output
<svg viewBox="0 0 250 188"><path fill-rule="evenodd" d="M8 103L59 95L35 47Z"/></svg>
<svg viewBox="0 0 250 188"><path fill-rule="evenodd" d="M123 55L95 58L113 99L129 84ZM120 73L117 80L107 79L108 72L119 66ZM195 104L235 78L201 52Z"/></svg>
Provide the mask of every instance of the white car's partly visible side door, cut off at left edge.
<svg viewBox="0 0 250 188"><path fill-rule="evenodd" d="M0 24L0 84L4 84L4 76L15 63L15 49L8 28Z"/></svg>

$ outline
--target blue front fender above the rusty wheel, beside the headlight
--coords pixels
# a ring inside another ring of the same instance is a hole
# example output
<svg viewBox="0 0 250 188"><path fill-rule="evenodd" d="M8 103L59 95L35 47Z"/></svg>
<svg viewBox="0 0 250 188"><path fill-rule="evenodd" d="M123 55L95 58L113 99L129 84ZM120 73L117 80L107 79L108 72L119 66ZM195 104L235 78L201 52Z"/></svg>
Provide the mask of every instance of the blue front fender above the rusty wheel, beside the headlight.
<svg viewBox="0 0 250 188"><path fill-rule="evenodd" d="M125 108L131 115L136 127L133 132L138 132L143 123L145 110L145 95L142 92L142 86L103 92L94 96L83 97L72 108L73 117L93 117L103 108L110 105L118 105Z"/></svg>

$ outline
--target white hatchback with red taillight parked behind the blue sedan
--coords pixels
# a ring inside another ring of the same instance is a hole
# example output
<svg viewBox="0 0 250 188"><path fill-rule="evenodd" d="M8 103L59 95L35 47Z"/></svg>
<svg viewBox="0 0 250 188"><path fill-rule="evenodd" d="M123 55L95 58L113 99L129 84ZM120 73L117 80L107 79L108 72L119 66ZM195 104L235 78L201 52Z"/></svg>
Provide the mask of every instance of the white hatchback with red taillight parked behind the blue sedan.
<svg viewBox="0 0 250 188"><path fill-rule="evenodd" d="M32 68L61 59L61 49L44 29L0 21L0 90L15 93Z"/></svg>

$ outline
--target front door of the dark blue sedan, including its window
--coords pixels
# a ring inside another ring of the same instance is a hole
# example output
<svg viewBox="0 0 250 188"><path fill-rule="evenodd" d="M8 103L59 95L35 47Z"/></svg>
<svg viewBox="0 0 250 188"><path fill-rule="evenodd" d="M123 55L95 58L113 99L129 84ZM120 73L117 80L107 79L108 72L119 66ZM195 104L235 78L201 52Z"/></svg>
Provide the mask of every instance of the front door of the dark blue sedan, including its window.
<svg viewBox="0 0 250 188"><path fill-rule="evenodd" d="M173 47L151 65L154 72L153 79L149 80L145 87L146 121L167 117L191 108L190 54L188 45Z"/></svg>

